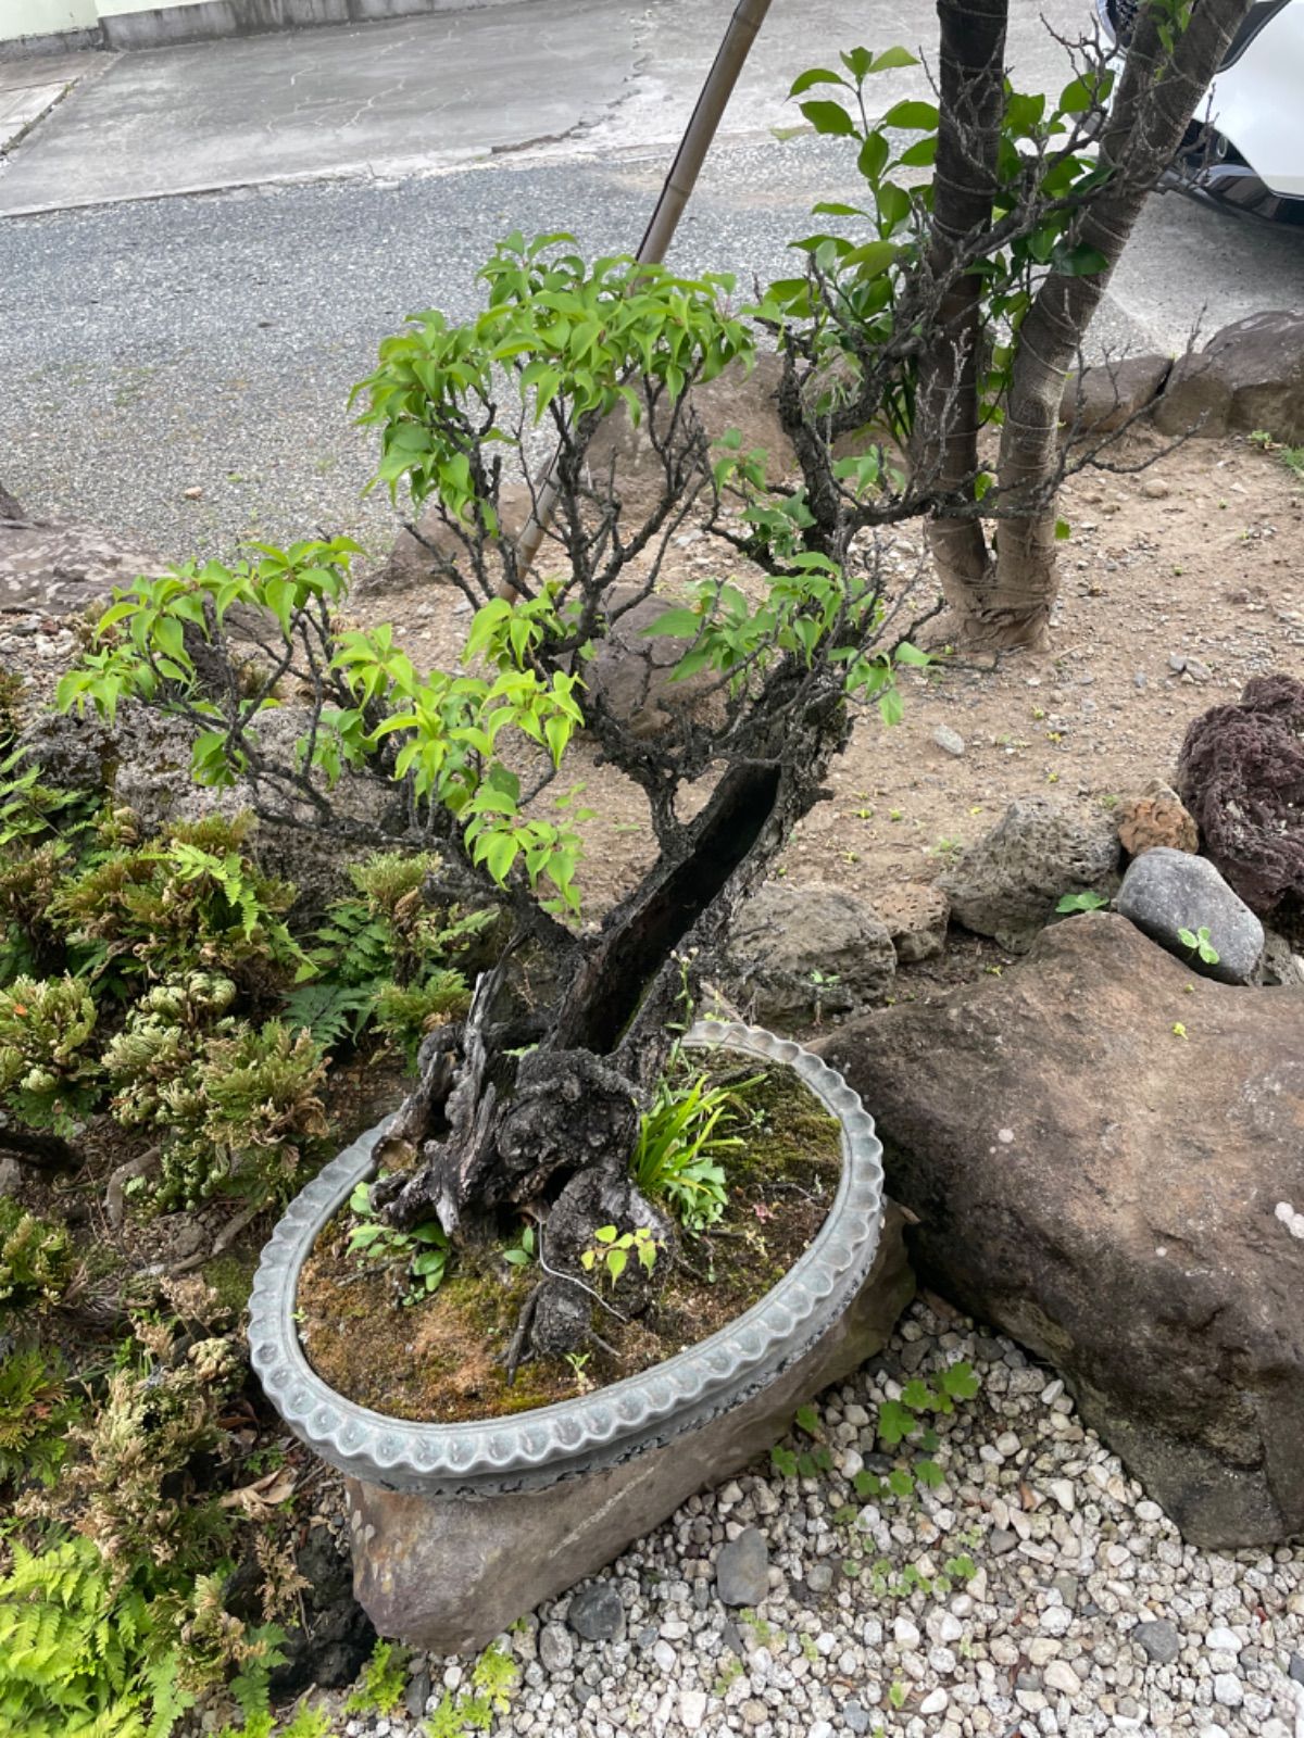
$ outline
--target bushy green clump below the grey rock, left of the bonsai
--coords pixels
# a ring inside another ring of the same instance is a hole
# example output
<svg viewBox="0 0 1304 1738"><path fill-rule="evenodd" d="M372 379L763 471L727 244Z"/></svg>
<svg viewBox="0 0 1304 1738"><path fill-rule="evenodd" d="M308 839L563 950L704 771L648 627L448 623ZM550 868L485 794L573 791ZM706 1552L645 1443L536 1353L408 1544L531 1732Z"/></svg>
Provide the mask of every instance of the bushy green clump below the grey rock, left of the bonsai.
<svg viewBox="0 0 1304 1738"><path fill-rule="evenodd" d="M254 864L250 827L247 815L209 815L110 850L56 892L49 916L94 978L155 982L207 966L243 984L283 982L304 959L285 926L294 888Z"/></svg>

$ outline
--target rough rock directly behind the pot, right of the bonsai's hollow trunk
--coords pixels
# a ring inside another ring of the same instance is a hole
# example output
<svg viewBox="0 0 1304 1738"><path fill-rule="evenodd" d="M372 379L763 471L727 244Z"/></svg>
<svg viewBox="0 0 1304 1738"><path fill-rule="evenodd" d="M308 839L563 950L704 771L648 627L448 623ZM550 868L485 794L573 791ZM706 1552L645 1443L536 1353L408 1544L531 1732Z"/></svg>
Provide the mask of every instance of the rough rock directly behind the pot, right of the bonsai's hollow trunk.
<svg viewBox="0 0 1304 1738"><path fill-rule="evenodd" d="M725 989L751 1018L789 1027L866 1008L895 970L887 925L855 893L767 881L734 919Z"/></svg>

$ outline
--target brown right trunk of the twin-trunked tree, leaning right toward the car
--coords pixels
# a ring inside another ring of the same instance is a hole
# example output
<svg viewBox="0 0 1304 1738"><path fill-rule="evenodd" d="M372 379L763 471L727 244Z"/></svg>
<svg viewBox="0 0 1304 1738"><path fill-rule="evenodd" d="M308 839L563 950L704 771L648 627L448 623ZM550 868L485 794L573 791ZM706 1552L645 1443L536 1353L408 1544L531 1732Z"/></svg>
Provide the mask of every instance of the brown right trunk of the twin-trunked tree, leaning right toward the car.
<svg viewBox="0 0 1304 1738"><path fill-rule="evenodd" d="M1059 419L1068 372L1078 362L1114 266L1151 188L1174 162L1186 129L1250 10L1250 0L1198 0L1172 56L1156 54L1148 7L1102 136L1114 174L1083 207L1071 240L1097 249L1104 268L1087 276L1052 271L1019 332L1000 448L1001 516L996 572L968 600L967 643L1043 645L1059 589L1055 497Z"/></svg>

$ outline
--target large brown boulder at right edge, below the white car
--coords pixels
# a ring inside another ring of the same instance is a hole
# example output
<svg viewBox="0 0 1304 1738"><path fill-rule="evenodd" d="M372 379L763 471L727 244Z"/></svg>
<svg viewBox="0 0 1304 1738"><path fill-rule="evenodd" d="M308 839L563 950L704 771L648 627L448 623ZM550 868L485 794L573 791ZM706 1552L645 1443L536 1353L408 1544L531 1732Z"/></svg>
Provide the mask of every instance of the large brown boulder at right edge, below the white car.
<svg viewBox="0 0 1304 1738"><path fill-rule="evenodd" d="M1163 434L1267 429L1304 440L1304 313L1250 315L1181 356L1154 426Z"/></svg>

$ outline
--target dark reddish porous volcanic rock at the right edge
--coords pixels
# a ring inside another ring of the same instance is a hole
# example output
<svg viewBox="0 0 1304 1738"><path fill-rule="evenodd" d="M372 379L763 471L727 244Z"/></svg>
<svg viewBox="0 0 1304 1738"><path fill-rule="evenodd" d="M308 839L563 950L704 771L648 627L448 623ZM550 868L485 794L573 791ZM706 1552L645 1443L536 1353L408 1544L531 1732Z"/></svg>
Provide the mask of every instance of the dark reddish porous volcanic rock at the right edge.
<svg viewBox="0 0 1304 1738"><path fill-rule="evenodd" d="M1304 683L1255 676L1186 732L1177 782L1205 852L1261 918L1304 902Z"/></svg>

